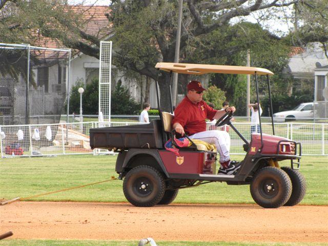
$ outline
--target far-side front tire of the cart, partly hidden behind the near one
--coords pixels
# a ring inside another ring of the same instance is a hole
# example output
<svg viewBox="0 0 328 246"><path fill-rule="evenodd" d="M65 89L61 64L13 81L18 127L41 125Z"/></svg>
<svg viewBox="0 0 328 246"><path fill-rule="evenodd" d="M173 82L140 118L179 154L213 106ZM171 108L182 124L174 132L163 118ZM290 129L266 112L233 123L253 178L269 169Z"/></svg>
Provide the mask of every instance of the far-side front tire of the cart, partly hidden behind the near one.
<svg viewBox="0 0 328 246"><path fill-rule="evenodd" d="M305 177L298 170L289 167L281 167L292 180L292 195L284 206L295 206L303 200L306 193Z"/></svg>

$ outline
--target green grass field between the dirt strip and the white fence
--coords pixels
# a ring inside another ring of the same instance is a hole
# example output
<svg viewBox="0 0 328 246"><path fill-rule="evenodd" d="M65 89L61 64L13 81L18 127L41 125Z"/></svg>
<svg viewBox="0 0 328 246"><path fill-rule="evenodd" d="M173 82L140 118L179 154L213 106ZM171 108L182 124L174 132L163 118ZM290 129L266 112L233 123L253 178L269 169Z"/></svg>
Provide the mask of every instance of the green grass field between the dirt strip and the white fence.
<svg viewBox="0 0 328 246"><path fill-rule="evenodd" d="M241 160L243 156L233 156ZM0 164L0 197L29 197L117 177L116 156L69 155L57 157L4 158ZM290 161L280 162L289 166ZM301 204L328 204L328 157L303 156L301 172L308 189ZM84 188L33 198L34 201L126 201L122 181L92 185ZM254 203L249 186L228 186L214 182L183 189L176 203Z"/></svg>

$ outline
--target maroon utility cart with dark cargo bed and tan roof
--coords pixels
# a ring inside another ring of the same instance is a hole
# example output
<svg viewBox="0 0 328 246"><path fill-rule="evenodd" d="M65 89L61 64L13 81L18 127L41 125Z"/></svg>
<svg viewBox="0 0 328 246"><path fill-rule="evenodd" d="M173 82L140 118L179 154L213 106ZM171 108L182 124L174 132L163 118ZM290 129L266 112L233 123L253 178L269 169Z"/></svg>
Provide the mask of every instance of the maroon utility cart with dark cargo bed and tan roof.
<svg viewBox="0 0 328 246"><path fill-rule="evenodd" d="M201 75L206 73L251 74L255 77L257 100L258 76L269 76L267 69L238 66L157 63L156 68L166 72ZM171 76L172 78L172 76ZM168 88L168 90L171 88ZM252 134L249 142L231 122L228 112L217 120L216 126L229 125L244 141L246 152L240 169L233 175L216 174L217 153L195 144L180 148L179 155L165 149L165 143L174 139L171 113L161 111L158 83L156 93L160 119L149 124L90 129L91 148L118 152L115 171L124 179L123 191L127 200L138 207L169 204L178 190L209 182L227 182L228 185L250 185L254 201L263 208L294 206L305 195L305 179L297 170L300 166L301 145L283 137L262 133ZM271 95L270 95L271 101ZM188 112L186 112L188 113ZM271 106L272 115L272 106ZM259 115L260 117L260 115ZM281 160L291 160L291 167L279 167Z"/></svg>

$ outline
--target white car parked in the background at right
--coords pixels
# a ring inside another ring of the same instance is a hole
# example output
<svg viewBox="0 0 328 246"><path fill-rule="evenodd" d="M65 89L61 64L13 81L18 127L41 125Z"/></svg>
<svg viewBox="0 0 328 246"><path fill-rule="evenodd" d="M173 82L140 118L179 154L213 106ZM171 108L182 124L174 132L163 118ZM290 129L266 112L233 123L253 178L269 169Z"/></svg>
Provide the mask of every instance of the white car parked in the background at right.
<svg viewBox="0 0 328 246"><path fill-rule="evenodd" d="M313 103L300 104L292 110L275 113L273 115L273 121L275 122L284 122L303 118L313 118Z"/></svg>

